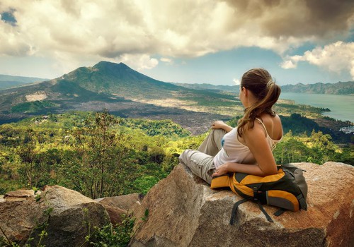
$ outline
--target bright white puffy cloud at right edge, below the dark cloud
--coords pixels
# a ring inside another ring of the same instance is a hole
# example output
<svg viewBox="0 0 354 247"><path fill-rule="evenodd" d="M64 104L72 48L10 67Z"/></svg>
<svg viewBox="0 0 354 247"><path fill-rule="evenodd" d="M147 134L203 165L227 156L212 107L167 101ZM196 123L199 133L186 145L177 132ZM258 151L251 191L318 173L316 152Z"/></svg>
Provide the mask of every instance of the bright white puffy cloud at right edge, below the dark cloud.
<svg viewBox="0 0 354 247"><path fill-rule="evenodd" d="M350 71L354 79L354 42L335 42L324 47L316 47L302 56L287 56L282 68L296 68L299 61L307 61L328 71L341 73Z"/></svg>

